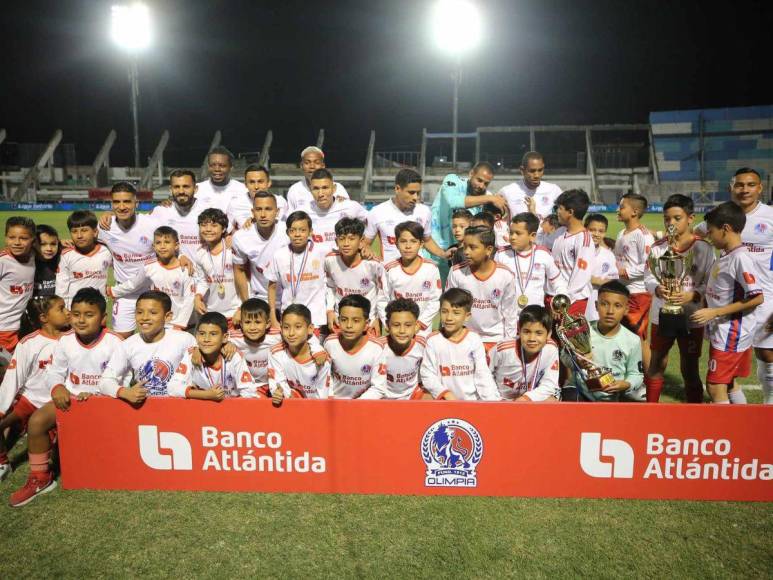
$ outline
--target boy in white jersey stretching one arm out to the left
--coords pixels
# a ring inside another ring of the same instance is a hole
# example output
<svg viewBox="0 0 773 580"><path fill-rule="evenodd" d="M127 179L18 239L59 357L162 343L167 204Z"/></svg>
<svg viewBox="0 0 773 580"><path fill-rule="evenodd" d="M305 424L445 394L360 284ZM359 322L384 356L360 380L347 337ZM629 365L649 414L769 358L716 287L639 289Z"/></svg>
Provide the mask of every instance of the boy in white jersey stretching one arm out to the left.
<svg viewBox="0 0 773 580"><path fill-rule="evenodd" d="M138 275L131 280L108 289L108 295L121 298L146 290L164 292L172 301L172 318L169 325L178 330L188 328L193 314L196 284L188 269L177 257L180 243L177 232L169 226L161 226L153 232L154 260L149 260Z"/></svg>

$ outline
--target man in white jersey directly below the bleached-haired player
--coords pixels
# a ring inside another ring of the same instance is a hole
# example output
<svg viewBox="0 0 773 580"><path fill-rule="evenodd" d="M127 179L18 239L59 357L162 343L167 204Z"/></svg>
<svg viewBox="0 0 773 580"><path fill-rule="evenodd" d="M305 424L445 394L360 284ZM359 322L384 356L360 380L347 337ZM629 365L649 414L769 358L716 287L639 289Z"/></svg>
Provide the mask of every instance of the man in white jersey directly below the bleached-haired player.
<svg viewBox="0 0 773 580"><path fill-rule="evenodd" d="M336 197L336 185L327 169L317 169L311 176L314 201L305 210L311 218L311 239L325 253L335 249L335 226L341 218L368 221L368 212L356 201Z"/></svg>

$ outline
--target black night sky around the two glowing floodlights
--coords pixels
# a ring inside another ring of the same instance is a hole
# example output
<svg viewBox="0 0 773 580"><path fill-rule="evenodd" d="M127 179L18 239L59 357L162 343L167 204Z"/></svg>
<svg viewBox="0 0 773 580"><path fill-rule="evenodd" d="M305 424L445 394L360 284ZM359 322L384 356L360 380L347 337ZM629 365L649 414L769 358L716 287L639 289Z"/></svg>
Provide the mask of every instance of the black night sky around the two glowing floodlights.
<svg viewBox="0 0 773 580"><path fill-rule="evenodd" d="M451 129L451 70L428 31L431 1L147 2L154 43L140 62L149 155L200 163L216 129L235 152L274 130L291 162L326 129L331 165L417 150L422 127ZM0 127L8 141L54 129L90 163L110 128L130 160L125 57L111 2L6 2ZM771 2L481 0L485 38L465 60L460 130L483 125L646 122L650 111L769 104Z"/></svg>

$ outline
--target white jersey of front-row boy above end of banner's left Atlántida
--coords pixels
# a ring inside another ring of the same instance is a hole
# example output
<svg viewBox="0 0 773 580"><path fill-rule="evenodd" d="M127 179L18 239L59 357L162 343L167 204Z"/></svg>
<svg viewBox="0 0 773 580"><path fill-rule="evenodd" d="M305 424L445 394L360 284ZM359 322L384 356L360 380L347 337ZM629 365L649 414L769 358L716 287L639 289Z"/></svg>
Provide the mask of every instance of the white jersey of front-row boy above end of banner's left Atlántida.
<svg viewBox="0 0 773 580"><path fill-rule="evenodd" d="M273 395L277 389L285 397L292 396L290 389L307 399L327 399L330 382L330 362L317 365L309 356L296 359L284 343L271 349L268 357L268 387Z"/></svg>

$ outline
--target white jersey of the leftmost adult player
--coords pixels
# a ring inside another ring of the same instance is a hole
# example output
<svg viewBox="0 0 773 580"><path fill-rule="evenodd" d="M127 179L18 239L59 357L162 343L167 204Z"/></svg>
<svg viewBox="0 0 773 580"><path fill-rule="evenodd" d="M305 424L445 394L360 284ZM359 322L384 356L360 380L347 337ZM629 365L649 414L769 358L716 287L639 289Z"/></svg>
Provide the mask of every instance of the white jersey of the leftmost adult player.
<svg viewBox="0 0 773 580"><path fill-rule="evenodd" d="M128 230L110 222L110 229L99 228L99 240L113 255L115 283L122 284L139 275L145 262L153 258L153 232L164 225L148 214L137 214L136 221ZM136 298L137 296L131 296Z"/></svg>

